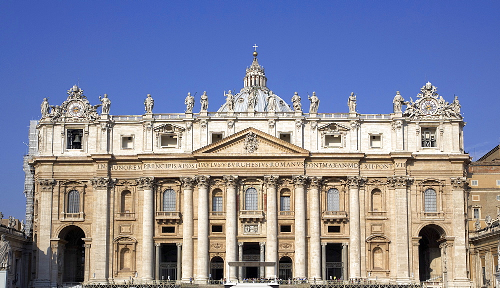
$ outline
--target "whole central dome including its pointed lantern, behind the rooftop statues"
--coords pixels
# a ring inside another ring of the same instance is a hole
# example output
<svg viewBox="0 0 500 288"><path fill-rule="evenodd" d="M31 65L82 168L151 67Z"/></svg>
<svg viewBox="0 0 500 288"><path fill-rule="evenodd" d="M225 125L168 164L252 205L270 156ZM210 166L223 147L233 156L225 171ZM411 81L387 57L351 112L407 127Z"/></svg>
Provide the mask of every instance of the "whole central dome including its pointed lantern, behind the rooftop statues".
<svg viewBox="0 0 500 288"><path fill-rule="evenodd" d="M250 93L256 93L257 102L255 104L255 112L267 112L267 96L269 96L269 88L266 87L267 78L265 77L264 67L260 66L257 61L257 52L253 52L253 61L250 67L246 68L246 75L243 78L243 88L233 96L234 112L248 111L248 96ZM281 97L276 96L276 112L293 112L290 105ZM217 112L227 112L227 104L224 103Z"/></svg>

